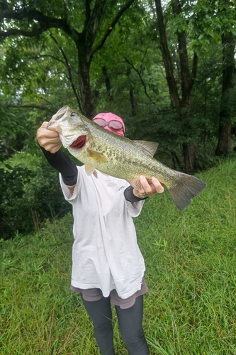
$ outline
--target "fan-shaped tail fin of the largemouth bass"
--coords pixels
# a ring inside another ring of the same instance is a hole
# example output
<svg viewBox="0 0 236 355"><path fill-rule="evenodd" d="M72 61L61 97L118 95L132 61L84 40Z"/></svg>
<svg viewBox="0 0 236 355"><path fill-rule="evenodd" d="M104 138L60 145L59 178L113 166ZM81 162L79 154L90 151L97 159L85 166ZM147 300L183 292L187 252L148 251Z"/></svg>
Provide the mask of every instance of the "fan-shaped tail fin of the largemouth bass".
<svg viewBox="0 0 236 355"><path fill-rule="evenodd" d="M169 187L168 191L176 207L184 211L191 204L192 198L205 189L206 183L195 176L179 173L179 171L176 173L179 175L179 182Z"/></svg>

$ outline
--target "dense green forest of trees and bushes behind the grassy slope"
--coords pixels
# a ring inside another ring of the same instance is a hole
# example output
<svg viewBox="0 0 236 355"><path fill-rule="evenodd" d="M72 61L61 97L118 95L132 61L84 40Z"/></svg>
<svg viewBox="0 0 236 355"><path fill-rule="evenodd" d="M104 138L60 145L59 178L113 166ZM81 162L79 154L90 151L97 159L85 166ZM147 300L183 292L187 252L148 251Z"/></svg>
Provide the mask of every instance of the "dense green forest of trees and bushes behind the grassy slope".
<svg viewBox="0 0 236 355"><path fill-rule="evenodd" d="M35 141L64 105L113 111L176 170L233 156L235 19L230 0L1 0L1 237L70 209Z"/></svg>

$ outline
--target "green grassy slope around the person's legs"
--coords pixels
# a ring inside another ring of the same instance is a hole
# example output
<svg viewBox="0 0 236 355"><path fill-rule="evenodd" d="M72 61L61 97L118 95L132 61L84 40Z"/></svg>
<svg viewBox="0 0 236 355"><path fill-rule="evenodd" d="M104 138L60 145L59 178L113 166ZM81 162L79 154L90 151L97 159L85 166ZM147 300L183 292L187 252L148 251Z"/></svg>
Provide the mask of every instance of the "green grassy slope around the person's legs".
<svg viewBox="0 0 236 355"><path fill-rule="evenodd" d="M198 174L208 187L184 212L165 192L135 219L150 354L236 354L235 173L235 160L220 161ZM69 290L72 216L1 249L1 354L99 354L82 302ZM113 315L116 354L128 354Z"/></svg>

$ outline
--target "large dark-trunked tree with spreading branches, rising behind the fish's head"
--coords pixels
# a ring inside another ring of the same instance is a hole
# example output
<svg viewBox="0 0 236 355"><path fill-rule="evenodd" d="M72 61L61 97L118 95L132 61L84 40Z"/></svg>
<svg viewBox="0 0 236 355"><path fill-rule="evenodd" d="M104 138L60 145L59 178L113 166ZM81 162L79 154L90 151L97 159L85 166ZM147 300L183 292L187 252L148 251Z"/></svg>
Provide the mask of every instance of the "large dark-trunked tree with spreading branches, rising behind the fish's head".
<svg viewBox="0 0 236 355"><path fill-rule="evenodd" d="M82 113L91 118L94 115L89 77L91 61L94 53L101 50L120 17L134 1L128 0L120 5L111 2L110 7L106 0L85 0L77 4L61 0L57 1L57 7L53 1L28 1L27 4L25 1L1 1L0 38L3 40L16 36L20 41L22 36L34 38L51 28L57 28L59 37L63 34L65 38L72 40L78 58L80 107ZM106 16L107 12L109 18ZM75 18L79 21L74 21ZM60 50L69 70L67 55L63 48Z"/></svg>

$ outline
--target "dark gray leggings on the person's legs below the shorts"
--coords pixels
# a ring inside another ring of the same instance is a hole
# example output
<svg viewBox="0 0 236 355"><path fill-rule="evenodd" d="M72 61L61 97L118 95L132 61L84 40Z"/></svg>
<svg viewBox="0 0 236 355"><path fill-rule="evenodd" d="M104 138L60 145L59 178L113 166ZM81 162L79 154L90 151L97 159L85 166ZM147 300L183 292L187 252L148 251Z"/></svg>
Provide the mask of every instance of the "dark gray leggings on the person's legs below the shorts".
<svg viewBox="0 0 236 355"><path fill-rule="evenodd" d="M84 307L94 324L94 335L102 355L115 355L113 348L113 327L110 297L99 301L86 301ZM147 342L142 330L143 297L139 296L135 304L125 310L118 306L116 314L120 333L130 355L148 355Z"/></svg>

